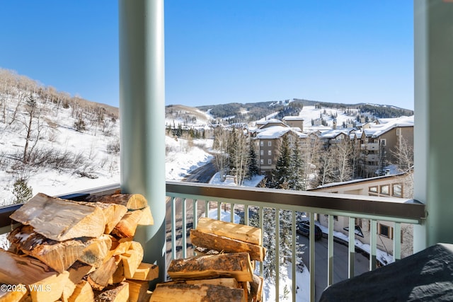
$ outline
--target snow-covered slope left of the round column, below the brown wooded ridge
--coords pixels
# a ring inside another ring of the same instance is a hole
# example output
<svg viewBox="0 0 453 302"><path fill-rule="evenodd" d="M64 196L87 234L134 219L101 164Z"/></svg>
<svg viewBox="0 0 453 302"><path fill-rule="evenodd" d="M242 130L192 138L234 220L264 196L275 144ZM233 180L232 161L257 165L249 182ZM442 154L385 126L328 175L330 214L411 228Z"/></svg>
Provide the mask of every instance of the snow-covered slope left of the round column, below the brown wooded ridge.
<svg viewBox="0 0 453 302"><path fill-rule="evenodd" d="M31 117L30 95L35 100ZM17 180L26 182L33 194L51 195L120 181L115 116L75 100L57 104L38 93L12 91L1 96L0 204L16 199Z"/></svg>

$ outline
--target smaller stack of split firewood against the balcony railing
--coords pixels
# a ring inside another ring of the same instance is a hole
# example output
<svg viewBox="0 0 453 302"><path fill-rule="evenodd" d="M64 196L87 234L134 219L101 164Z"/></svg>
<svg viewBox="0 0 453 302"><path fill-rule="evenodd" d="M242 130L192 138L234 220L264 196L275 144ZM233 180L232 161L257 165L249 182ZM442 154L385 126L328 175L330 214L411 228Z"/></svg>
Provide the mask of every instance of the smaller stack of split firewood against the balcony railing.
<svg viewBox="0 0 453 302"><path fill-rule="evenodd" d="M253 274L265 257L260 228L202 218L190 239L202 255L172 260L173 281L158 284L151 301L261 301L263 278Z"/></svg>

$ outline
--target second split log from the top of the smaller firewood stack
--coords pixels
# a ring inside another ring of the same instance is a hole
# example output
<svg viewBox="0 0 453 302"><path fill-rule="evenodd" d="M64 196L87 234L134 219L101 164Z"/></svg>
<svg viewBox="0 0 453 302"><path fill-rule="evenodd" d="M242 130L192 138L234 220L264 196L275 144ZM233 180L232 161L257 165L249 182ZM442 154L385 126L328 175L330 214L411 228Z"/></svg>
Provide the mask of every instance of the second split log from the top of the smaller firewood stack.
<svg viewBox="0 0 453 302"><path fill-rule="evenodd" d="M265 257L264 247L224 236L202 233L192 229L190 230L190 240L193 245L212 250L223 250L224 252L248 252L251 260L263 261Z"/></svg>

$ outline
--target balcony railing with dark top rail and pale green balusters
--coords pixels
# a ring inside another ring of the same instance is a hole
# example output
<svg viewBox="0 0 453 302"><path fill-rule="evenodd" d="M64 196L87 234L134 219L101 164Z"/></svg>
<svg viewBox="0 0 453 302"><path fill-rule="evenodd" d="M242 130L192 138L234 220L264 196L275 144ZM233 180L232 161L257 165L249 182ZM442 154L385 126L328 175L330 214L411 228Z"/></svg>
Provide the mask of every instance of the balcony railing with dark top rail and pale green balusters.
<svg viewBox="0 0 453 302"><path fill-rule="evenodd" d="M116 186L87 190L86 192L64 196L67 199L77 199L86 194L109 194L115 191ZM171 249L168 250L168 258L188 257L188 236L190 228L196 228L197 220L201 215L207 216L210 204L217 208L217 217L221 215L221 209L228 205L231 211L231 221L234 220L234 209L241 205L243 209L243 221L248 224L251 220L248 209L258 211L259 227L263 230L263 209L275 209L275 254L280 254L280 211L288 210L292 214L292 276L296 276L296 212L304 212L309 217L311 225L315 223L315 214L328 215L328 272L327 284L333 284L333 217L349 217L349 229L355 228L355 219L369 219L371 221L371 243L369 255L369 269L374 269L377 263L377 221L392 221L394 225L394 260L401 258L401 223L420 224L425 219L425 206L412 199L394 199L389 197L367 197L345 194L328 194L322 192L302 192L287 190L271 190L263 188L247 187L222 187L214 185L200 185L187 182L167 182L166 195L171 213ZM401 202L401 200L403 202ZM176 204L180 204L177 209ZM200 214L204 205L205 211ZM21 207L13 205L0 208L0 233L11 231L11 219L8 216ZM152 207L152 206L151 206ZM192 209L190 209L192 208ZM167 215L168 216L168 215ZM178 217L178 219L177 219ZM177 228L178 226L178 228ZM180 238L180 245L177 244ZM310 228L309 236L309 300L315 301L315 253L314 253L314 228ZM355 233L348 236L348 276L354 276L355 259ZM190 240L190 239L189 239ZM146 251L145 251L146 252ZM275 269L276 284L275 297L279 301L279 257L275 257L272 265ZM260 263L260 274L263 274L263 263ZM292 301L296 301L296 279L292 278Z"/></svg>

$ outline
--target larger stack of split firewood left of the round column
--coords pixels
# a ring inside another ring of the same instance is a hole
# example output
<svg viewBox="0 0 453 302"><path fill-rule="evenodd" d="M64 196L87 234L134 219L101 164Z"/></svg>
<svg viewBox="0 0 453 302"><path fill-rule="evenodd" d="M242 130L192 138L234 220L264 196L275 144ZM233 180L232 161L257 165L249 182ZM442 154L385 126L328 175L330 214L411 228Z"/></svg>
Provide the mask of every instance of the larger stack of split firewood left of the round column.
<svg viewBox="0 0 453 302"><path fill-rule="evenodd" d="M21 226L0 249L0 301L149 301L159 271L133 240L137 226L154 222L142 195L37 194L11 219Z"/></svg>

